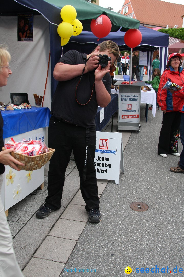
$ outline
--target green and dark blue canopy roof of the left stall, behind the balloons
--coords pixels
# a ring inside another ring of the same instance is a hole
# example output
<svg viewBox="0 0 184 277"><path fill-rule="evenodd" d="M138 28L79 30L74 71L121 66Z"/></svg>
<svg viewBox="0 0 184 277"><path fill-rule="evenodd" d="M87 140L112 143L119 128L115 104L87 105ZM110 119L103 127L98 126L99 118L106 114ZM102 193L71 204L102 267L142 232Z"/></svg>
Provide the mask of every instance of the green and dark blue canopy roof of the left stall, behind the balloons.
<svg viewBox="0 0 184 277"><path fill-rule="evenodd" d="M18 4L19 3L19 4ZM21 7L21 5L24 7ZM62 22L60 10L65 5L73 6L77 11L77 19L81 21L83 30L91 31L92 19L97 19L101 14L109 17L112 23L111 32L127 31L128 29L138 29L139 21L130 17L118 14L109 9L89 3L85 0L1 0L0 15L12 14L12 12L26 12L29 9L41 13L50 23L59 25Z"/></svg>

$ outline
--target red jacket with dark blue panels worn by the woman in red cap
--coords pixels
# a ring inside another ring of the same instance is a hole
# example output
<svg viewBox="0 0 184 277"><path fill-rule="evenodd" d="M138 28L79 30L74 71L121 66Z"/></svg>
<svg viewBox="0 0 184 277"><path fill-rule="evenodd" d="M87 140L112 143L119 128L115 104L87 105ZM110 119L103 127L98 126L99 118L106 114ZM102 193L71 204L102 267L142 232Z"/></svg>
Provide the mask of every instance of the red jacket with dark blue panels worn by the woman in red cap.
<svg viewBox="0 0 184 277"><path fill-rule="evenodd" d="M169 69L164 70L160 79L157 94L157 102L161 107L162 111L179 111L181 99L175 97L174 94L172 94L169 90L162 89L162 87L166 84L167 81L176 83L179 86L183 86L184 69L182 67L179 67L179 74L176 71L174 71L174 69L171 66L169 66Z"/></svg>

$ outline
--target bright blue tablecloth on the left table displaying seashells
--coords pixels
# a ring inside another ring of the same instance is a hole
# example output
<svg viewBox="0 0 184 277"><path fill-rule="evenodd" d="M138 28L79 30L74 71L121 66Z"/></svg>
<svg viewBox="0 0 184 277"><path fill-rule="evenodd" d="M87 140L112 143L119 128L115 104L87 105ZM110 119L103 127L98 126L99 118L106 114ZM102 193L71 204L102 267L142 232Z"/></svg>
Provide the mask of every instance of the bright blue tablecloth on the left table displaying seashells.
<svg viewBox="0 0 184 277"><path fill-rule="evenodd" d="M3 139L49 126L50 110L45 107L1 111L4 121Z"/></svg>

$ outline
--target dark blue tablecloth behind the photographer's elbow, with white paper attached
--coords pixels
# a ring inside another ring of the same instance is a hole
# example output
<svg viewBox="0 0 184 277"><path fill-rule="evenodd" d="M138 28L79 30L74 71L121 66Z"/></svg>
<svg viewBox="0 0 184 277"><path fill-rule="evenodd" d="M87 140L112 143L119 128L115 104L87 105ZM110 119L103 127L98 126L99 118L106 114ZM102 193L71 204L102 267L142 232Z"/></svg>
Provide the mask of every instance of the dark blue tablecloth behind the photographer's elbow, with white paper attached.
<svg viewBox="0 0 184 277"><path fill-rule="evenodd" d="M104 119L100 123L100 110L102 108L98 107L97 114L95 116L95 124L96 130L99 132L105 127L105 125L111 119L111 116L117 111L118 109L118 94L111 94L111 102L104 108Z"/></svg>

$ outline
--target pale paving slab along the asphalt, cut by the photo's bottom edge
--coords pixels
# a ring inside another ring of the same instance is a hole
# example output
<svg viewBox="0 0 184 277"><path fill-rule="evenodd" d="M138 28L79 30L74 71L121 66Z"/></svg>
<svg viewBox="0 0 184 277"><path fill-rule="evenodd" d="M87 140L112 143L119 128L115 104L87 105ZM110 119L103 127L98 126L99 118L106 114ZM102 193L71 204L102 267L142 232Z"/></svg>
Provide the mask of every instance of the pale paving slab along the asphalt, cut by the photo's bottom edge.
<svg viewBox="0 0 184 277"><path fill-rule="evenodd" d="M65 263L32 258L23 270L24 277L57 277Z"/></svg>

